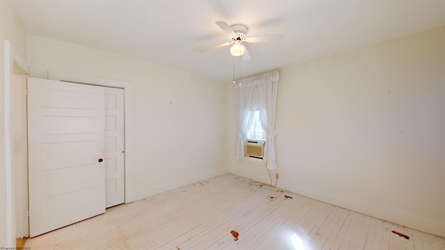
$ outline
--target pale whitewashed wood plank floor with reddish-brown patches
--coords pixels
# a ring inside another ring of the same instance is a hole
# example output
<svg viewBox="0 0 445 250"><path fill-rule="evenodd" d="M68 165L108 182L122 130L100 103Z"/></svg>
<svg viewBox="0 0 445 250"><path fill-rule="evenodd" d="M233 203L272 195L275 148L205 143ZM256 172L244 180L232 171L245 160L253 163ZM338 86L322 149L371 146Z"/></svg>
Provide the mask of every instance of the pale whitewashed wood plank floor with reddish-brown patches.
<svg viewBox="0 0 445 250"><path fill-rule="evenodd" d="M25 247L445 249L444 238L250 182L227 174L186 185L108 208L104 215L30 238ZM391 231L403 233L410 240Z"/></svg>

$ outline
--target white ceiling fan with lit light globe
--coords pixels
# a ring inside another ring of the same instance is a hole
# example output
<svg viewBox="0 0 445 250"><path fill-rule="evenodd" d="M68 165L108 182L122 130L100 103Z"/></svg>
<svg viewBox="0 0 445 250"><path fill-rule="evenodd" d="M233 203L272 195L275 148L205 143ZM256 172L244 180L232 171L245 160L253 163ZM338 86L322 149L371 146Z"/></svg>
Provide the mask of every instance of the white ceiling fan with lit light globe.
<svg viewBox="0 0 445 250"><path fill-rule="evenodd" d="M282 40L283 38L282 35L259 35L249 38L246 36L248 27L243 24L234 24L229 26L229 24L224 21L218 21L215 23L229 36L230 42L199 49L201 52L232 45L232 47L230 47L230 53L232 56L242 56L243 60L250 60L250 54L248 49L245 47L245 42L273 42Z"/></svg>

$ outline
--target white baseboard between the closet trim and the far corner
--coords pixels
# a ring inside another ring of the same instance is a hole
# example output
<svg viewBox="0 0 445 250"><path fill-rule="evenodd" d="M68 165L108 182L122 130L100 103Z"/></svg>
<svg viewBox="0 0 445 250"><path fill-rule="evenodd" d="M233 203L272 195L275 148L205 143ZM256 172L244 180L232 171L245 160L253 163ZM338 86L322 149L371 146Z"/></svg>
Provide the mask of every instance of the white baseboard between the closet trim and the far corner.
<svg viewBox="0 0 445 250"><path fill-rule="evenodd" d="M134 197L134 200L137 201L137 200L143 199L145 197L150 197L154 194L160 194L161 192L179 188L184 185L188 185L191 183L195 183L197 181L202 181L202 180L205 180L208 178L213 178L216 176L220 176L221 174L227 174L227 173L228 173L227 171L211 171L211 172L204 172L204 173L200 172L200 174L184 176L184 177L172 180L172 181L168 181L167 183L161 183L161 184L149 186L148 188L134 190L133 197Z"/></svg>

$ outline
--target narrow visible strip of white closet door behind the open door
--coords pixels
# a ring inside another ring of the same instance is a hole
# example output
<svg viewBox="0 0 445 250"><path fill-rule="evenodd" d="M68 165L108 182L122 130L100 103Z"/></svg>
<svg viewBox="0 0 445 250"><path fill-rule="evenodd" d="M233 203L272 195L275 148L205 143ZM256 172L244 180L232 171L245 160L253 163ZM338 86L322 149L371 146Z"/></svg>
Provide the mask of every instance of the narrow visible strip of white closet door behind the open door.
<svg viewBox="0 0 445 250"><path fill-rule="evenodd" d="M105 88L106 207L124 203L124 90Z"/></svg>

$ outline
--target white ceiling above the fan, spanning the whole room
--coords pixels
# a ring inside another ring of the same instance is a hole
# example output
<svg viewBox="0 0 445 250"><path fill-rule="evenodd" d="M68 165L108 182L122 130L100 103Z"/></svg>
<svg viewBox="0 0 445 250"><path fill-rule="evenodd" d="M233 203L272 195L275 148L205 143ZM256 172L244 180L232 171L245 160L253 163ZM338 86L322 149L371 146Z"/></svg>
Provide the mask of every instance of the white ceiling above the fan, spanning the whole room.
<svg viewBox="0 0 445 250"><path fill-rule="evenodd" d="M280 42L250 43L249 76L366 47L445 25L445 0L13 0L31 35L139 58L231 81L239 59L215 24L245 24L248 36L281 34ZM445 44L444 44L445 46Z"/></svg>

